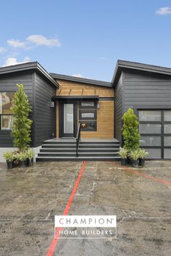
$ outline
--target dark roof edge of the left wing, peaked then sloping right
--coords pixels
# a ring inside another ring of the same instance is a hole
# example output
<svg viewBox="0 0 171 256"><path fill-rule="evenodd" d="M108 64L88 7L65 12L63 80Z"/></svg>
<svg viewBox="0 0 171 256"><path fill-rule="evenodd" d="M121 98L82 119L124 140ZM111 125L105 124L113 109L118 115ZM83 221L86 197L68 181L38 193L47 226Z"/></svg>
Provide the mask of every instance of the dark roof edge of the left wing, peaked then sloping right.
<svg viewBox="0 0 171 256"><path fill-rule="evenodd" d="M51 82L53 86L59 87L59 83L57 83L54 78L49 75L49 73L38 63L38 62L27 62L7 67L0 67L0 75L8 74L8 73L15 73L25 70L36 70L41 73L46 79Z"/></svg>

